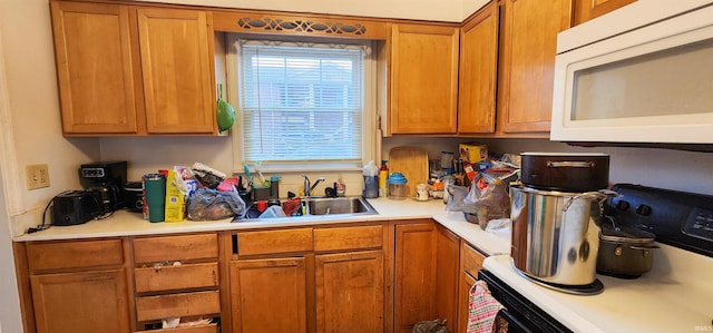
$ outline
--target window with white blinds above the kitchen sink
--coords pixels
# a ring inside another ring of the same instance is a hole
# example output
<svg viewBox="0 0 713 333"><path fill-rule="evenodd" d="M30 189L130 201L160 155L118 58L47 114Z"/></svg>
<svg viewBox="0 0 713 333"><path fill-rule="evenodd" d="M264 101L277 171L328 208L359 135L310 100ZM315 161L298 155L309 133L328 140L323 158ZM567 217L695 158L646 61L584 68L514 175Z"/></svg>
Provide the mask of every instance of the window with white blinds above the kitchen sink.
<svg viewBox="0 0 713 333"><path fill-rule="evenodd" d="M371 159L375 110L365 87L375 85L368 43L233 41L236 169L254 161L359 169Z"/></svg>

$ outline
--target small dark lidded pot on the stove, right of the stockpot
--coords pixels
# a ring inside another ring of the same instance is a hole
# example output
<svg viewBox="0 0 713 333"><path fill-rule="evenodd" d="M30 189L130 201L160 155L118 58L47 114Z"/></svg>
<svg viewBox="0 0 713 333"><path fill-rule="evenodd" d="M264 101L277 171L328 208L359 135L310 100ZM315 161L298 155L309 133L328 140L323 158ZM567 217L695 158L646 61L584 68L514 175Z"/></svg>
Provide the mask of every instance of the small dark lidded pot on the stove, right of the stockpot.
<svg viewBox="0 0 713 333"><path fill-rule="evenodd" d="M656 235L632 227L604 224L597 255L597 272L636 278L651 271Z"/></svg>

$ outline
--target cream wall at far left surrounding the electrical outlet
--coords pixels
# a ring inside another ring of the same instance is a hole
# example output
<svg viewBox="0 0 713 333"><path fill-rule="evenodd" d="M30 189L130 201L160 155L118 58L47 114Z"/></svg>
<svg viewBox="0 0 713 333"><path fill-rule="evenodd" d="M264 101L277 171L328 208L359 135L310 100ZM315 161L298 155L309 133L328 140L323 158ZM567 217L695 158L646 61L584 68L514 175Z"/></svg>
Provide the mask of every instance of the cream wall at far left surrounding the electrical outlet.
<svg viewBox="0 0 713 333"><path fill-rule="evenodd" d="M99 141L61 135L48 1L0 1L0 76L7 82L0 136L4 145L13 143L0 150L0 161L11 192L10 232L18 235L40 223L41 210L56 194L80 188L77 168L99 158ZM50 187L26 189L25 168L32 164L48 164Z"/></svg>

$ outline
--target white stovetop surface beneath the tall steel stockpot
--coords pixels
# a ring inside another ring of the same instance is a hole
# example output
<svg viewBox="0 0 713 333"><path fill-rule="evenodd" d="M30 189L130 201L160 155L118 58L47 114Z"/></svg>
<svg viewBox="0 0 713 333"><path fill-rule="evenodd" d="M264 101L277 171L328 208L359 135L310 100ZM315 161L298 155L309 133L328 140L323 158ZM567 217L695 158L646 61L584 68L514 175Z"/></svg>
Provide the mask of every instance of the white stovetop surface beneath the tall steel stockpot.
<svg viewBox="0 0 713 333"><path fill-rule="evenodd" d="M634 280L597 275L598 295L573 295L537 285L509 255L486 258L486 270L574 332L713 331L713 258L660 244L653 270Z"/></svg>

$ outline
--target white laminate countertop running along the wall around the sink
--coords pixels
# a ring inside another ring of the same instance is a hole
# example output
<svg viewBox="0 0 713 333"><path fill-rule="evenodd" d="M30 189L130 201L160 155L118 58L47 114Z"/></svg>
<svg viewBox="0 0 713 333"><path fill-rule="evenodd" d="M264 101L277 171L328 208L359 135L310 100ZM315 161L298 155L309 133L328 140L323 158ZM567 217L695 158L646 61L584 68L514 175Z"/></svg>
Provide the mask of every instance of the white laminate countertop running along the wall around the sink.
<svg viewBox="0 0 713 333"><path fill-rule="evenodd" d="M141 213L117 210L106 219L89 221L80 225L52 226L48 229L25 234L14 242L59 241L96 237L141 236L177 233L196 233L229 229L251 229L265 227L309 226L334 223L354 223L367 221L394 221L433 218L458 236L487 255L509 253L510 235L496 235L482 231L478 225L468 223L462 213L446 212L442 200L418 202L414 199L392 200L388 198L368 199L377 209L375 215L354 215L335 217L330 215L309 217L263 218L260 221L232 218L219 221L184 221L150 223Z"/></svg>

